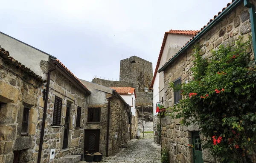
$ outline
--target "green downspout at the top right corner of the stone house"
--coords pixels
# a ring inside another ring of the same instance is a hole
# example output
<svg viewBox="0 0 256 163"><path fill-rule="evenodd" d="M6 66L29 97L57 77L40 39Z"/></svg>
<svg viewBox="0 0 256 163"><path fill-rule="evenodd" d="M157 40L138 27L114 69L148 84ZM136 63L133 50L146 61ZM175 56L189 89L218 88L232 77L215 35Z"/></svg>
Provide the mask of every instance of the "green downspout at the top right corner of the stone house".
<svg viewBox="0 0 256 163"><path fill-rule="evenodd" d="M252 29L252 37L253 37L253 53L254 53L254 60L256 62L256 18L255 18L255 6L249 2L249 0L244 0L244 6L249 8L250 12L250 23Z"/></svg>

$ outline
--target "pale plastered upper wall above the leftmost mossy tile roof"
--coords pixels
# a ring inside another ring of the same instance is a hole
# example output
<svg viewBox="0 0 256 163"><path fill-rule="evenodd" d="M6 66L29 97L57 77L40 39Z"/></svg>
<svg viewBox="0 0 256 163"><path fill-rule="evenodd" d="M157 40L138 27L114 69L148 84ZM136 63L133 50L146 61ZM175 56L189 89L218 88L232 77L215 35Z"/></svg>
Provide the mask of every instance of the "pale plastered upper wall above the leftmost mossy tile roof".
<svg viewBox="0 0 256 163"><path fill-rule="evenodd" d="M49 55L40 50L32 48L6 34L0 32L0 45L6 51L9 51L10 56L14 57L20 63L31 69L39 76L46 79L46 74L40 68L41 60L49 61Z"/></svg>

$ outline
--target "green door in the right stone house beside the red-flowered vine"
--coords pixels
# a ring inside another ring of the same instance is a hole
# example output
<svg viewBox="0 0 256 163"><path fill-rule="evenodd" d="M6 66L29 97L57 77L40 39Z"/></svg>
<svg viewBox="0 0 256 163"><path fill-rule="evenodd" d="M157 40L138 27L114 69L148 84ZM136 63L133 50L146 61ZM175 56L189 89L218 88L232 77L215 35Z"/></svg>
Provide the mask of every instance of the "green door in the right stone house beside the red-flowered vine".
<svg viewBox="0 0 256 163"><path fill-rule="evenodd" d="M192 138L193 138L193 144L194 144L194 148L193 148L194 163L204 163L203 157L202 157L202 148L201 148L199 133L193 132Z"/></svg>

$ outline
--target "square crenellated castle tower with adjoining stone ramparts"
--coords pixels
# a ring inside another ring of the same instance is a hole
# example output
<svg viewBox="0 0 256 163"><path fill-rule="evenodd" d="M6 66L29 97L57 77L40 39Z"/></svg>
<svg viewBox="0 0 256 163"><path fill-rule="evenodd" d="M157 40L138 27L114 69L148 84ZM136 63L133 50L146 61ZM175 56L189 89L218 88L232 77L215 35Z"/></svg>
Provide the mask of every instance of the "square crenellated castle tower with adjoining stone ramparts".
<svg viewBox="0 0 256 163"><path fill-rule="evenodd" d="M152 112L153 92L145 93L153 77L152 63L137 56L120 61L119 81L94 78L93 83L106 87L133 87L136 91L136 108Z"/></svg>

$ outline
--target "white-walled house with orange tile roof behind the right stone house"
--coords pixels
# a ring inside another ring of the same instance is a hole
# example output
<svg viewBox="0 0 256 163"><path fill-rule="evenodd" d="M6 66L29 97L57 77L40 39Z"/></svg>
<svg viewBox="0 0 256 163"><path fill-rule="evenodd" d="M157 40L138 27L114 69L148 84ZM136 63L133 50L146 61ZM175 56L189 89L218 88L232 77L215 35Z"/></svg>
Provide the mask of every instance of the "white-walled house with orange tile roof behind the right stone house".
<svg viewBox="0 0 256 163"><path fill-rule="evenodd" d="M198 31L183 31L170 30L165 32L163 43L157 60L154 76L151 81L150 89L153 89L153 127L154 127L154 143L160 143L160 137L157 132L157 124L160 121L157 119L157 105L163 105L164 102L164 82L163 72L157 73L159 67L162 67L177 52L192 36L195 36Z"/></svg>

